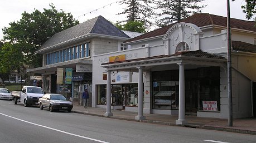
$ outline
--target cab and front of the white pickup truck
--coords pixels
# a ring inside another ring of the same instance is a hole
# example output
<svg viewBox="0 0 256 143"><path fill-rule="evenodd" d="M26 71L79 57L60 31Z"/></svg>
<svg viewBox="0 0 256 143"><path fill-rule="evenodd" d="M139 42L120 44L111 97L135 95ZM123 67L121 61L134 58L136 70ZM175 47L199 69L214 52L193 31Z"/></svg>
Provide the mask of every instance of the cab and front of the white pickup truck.
<svg viewBox="0 0 256 143"><path fill-rule="evenodd" d="M44 96L45 93L41 87L37 86L23 86L20 93L21 103L24 103L24 106L28 105L38 105L38 99Z"/></svg>

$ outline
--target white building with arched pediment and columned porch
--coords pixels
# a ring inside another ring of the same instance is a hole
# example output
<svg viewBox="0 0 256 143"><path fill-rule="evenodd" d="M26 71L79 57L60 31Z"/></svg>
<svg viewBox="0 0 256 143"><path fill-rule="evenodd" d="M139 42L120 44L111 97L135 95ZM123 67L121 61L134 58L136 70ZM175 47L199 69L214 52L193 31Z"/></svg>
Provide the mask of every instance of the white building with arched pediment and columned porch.
<svg viewBox="0 0 256 143"><path fill-rule="evenodd" d="M234 119L255 115L255 22L230 19ZM228 119L226 17L194 14L94 55L93 107Z"/></svg>

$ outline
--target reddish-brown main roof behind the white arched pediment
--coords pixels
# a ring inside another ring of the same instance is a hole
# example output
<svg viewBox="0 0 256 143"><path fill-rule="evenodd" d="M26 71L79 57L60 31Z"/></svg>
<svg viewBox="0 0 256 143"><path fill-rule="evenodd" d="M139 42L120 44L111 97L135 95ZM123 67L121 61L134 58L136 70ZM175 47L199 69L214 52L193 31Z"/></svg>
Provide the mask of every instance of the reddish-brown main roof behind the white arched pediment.
<svg viewBox="0 0 256 143"><path fill-rule="evenodd" d="M212 25L226 27L226 17L216 16L214 14L209 14L209 13L196 13L176 23L180 23L180 22L192 23L192 24L195 24L197 27L212 26ZM151 37L163 36L166 34L168 29L170 29L176 23L156 29L146 34L142 34L141 36L125 41L125 43L143 40ZM230 18L230 27L256 32L254 21L244 21L241 19Z"/></svg>

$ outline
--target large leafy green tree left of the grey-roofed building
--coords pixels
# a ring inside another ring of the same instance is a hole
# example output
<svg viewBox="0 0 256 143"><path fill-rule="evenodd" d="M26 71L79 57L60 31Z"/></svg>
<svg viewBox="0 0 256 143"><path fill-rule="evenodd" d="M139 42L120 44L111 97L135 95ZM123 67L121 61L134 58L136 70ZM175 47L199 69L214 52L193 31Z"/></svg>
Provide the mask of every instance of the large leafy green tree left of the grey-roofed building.
<svg viewBox="0 0 256 143"><path fill-rule="evenodd" d="M35 51L55 33L79 23L70 13L65 13L62 9L60 12L57 11L52 3L49 6L51 8L44 8L44 12L37 9L32 13L25 11L20 21L11 22L9 27L2 29L4 41L9 41L7 47L13 46L9 49L17 48L13 51L22 53L22 57L15 58L21 65L42 66L42 55L35 54Z"/></svg>

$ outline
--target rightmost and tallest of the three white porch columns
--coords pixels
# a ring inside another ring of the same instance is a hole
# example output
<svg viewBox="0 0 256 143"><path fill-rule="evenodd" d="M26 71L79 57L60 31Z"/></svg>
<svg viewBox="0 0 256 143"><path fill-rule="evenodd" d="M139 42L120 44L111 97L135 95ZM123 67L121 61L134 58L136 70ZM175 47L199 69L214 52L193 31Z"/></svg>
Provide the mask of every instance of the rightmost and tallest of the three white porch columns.
<svg viewBox="0 0 256 143"><path fill-rule="evenodd" d="M180 66L180 76L178 85L178 120L176 120L176 125L183 125L187 123L185 120L185 75L183 63L177 64Z"/></svg>

